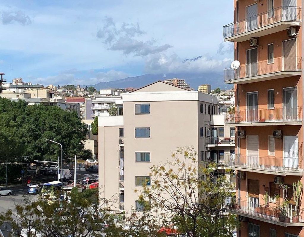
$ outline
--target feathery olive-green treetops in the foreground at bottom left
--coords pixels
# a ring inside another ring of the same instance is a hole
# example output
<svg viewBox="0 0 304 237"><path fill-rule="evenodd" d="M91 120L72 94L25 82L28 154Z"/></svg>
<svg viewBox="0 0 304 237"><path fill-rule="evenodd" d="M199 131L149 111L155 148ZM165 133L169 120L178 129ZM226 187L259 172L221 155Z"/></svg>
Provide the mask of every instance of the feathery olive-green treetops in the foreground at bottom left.
<svg viewBox="0 0 304 237"><path fill-rule="evenodd" d="M109 214L112 201L106 199L98 200L98 189L88 189L79 193L73 188L66 193L65 199L59 199L60 193L56 193L57 200L39 198L38 201L30 201L28 198L24 203L19 203L14 209L9 209L0 214L0 225L9 222L16 235L23 237L23 232L28 232L29 237L152 237L157 235L155 221L145 216L137 216L132 213L125 220L129 229L115 225L113 215ZM107 223L104 228L103 223ZM140 223L136 225L136 223ZM30 228L29 228L30 225ZM134 228L136 225L136 229ZM144 226L148 226L147 233ZM32 233L27 231L31 229Z"/></svg>

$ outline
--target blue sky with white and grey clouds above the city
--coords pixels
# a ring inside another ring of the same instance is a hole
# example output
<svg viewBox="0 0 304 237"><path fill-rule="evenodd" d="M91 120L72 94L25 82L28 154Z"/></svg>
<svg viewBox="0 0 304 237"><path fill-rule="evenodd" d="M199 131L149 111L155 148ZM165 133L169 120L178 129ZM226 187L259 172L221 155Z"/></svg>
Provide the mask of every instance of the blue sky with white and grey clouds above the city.
<svg viewBox="0 0 304 237"><path fill-rule="evenodd" d="M0 9L0 71L8 82L223 73L233 60L233 43L223 42L232 0L2 0Z"/></svg>

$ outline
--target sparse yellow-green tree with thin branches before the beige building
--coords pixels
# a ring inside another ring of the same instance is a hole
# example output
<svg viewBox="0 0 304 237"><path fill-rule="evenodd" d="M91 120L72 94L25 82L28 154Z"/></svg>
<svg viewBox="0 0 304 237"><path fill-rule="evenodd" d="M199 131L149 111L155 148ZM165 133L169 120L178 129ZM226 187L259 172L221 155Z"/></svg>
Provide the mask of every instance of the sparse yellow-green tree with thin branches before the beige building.
<svg viewBox="0 0 304 237"><path fill-rule="evenodd" d="M150 205L151 215L164 225L177 225L189 237L232 236L235 215L223 212L225 201L233 197L234 185L225 175L214 182L216 165L200 167L193 147L179 147L172 158L151 168L151 186L135 190L139 201Z"/></svg>

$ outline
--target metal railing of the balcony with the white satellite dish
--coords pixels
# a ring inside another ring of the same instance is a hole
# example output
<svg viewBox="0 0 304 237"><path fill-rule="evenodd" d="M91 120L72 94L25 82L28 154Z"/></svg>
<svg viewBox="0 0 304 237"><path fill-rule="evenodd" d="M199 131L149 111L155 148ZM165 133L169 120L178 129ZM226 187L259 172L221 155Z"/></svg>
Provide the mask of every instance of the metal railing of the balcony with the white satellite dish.
<svg viewBox="0 0 304 237"><path fill-rule="evenodd" d="M272 60L259 61L257 63L243 64L238 69L224 69L224 81L237 80L252 76L261 76L277 72L302 71L302 57L278 57Z"/></svg>

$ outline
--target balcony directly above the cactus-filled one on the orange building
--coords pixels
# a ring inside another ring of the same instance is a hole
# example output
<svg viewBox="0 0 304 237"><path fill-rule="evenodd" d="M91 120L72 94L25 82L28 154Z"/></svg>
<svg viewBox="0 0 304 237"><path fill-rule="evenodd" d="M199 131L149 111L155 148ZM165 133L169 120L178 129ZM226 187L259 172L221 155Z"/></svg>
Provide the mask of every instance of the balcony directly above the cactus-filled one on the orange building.
<svg viewBox="0 0 304 237"><path fill-rule="evenodd" d="M295 157L269 157L232 154L225 156L225 165L233 170L256 172L275 175L303 175L303 157L297 155L302 149L299 144L299 152Z"/></svg>

